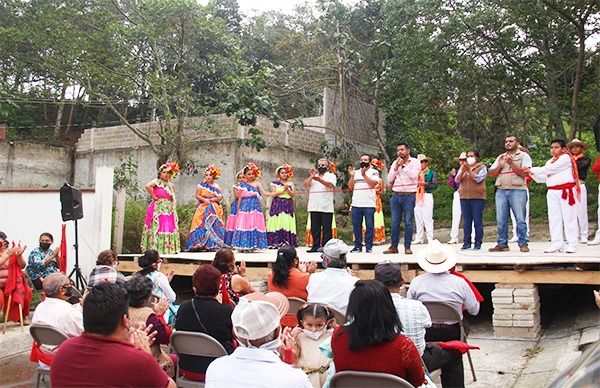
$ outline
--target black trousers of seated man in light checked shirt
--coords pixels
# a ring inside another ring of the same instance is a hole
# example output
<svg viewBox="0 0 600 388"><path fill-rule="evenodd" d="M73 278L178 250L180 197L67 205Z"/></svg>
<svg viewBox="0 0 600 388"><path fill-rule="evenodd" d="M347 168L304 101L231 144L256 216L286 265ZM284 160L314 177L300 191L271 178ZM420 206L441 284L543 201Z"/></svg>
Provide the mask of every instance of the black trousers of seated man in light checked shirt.
<svg viewBox="0 0 600 388"><path fill-rule="evenodd" d="M465 370L459 351L446 350L439 345L427 343L423 351L423 362L429 372L442 370L442 387L465 386Z"/></svg>

